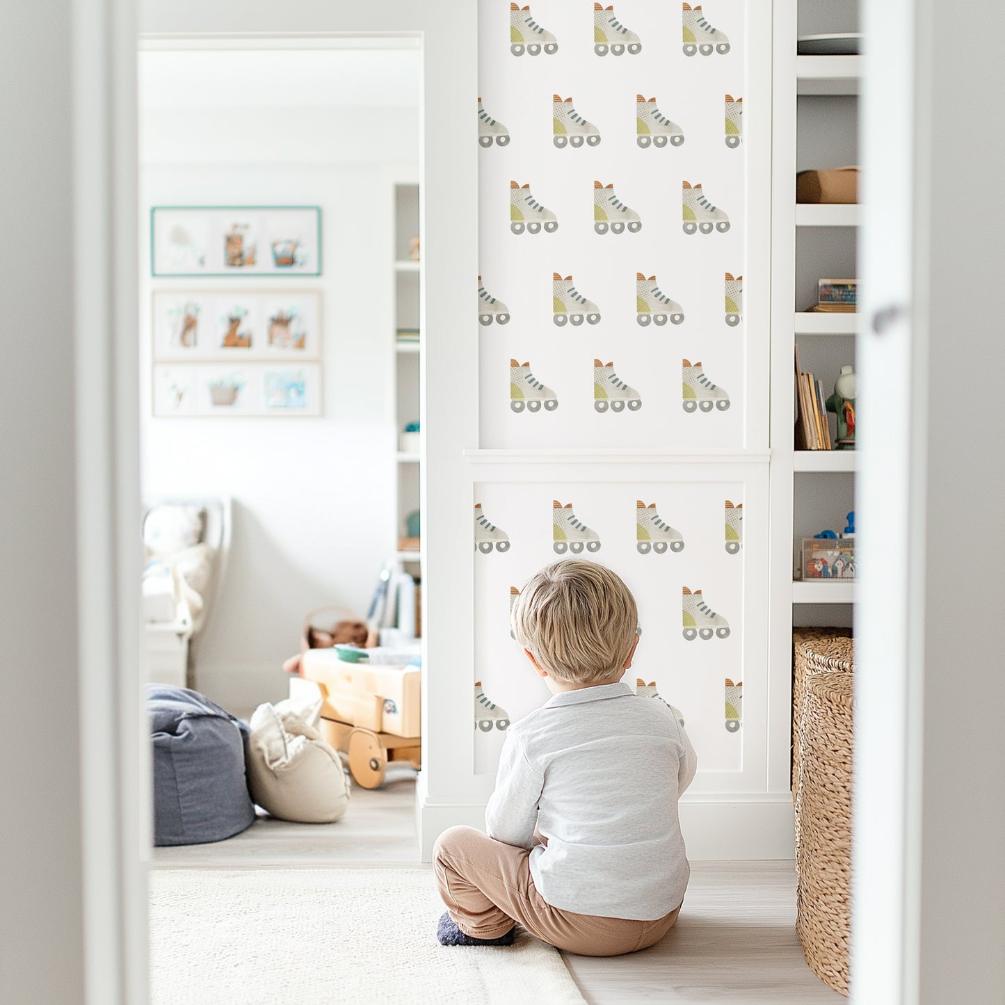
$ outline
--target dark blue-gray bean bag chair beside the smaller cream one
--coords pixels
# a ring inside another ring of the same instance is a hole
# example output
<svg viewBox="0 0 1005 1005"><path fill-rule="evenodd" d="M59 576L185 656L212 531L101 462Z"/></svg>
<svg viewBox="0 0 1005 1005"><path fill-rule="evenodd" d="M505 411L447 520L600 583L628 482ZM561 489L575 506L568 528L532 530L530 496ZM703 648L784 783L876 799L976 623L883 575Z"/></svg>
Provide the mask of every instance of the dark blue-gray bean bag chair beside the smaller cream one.
<svg viewBox="0 0 1005 1005"><path fill-rule="evenodd" d="M149 684L154 844L222 841L254 821L244 776L248 727L197 691Z"/></svg>

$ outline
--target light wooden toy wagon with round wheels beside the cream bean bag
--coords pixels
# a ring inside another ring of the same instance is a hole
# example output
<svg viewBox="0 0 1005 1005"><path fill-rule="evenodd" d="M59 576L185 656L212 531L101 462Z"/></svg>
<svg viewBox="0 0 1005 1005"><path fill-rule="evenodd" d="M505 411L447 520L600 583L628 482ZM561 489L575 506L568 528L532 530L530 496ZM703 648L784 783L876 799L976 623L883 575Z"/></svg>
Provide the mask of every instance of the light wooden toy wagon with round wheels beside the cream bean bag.
<svg viewBox="0 0 1005 1005"><path fill-rule="evenodd" d="M384 781L389 761L421 767L418 666L351 663L337 649L308 649L290 695L314 694L324 703L319 729L349 755L349 770L364 789Z"/></svg>

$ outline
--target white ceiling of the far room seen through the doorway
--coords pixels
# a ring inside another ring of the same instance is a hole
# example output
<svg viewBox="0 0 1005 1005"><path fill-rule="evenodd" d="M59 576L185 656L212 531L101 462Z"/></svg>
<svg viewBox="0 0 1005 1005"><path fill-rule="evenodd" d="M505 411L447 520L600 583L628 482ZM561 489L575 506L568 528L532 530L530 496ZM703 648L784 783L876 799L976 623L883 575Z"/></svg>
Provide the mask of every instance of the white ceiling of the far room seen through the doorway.
<svg viewBox="0 0 1005 1005"><path fill-rule="evenodd" d="M141 109L418 106L417 49L139 53Z"/></svg>

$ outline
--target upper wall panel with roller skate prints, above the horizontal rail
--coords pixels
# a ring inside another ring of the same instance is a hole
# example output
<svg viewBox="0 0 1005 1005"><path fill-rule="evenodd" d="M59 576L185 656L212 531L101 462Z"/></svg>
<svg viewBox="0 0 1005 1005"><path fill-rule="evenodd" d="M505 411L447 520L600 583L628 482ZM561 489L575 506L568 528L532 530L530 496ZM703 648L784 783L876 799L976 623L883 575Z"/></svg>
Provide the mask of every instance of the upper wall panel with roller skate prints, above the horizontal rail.
<svg viewBox="0 0 1005 1005"><path fill-rule="evenodd" d="M744 445L745 18L481 0L483 447Z"/></svg>

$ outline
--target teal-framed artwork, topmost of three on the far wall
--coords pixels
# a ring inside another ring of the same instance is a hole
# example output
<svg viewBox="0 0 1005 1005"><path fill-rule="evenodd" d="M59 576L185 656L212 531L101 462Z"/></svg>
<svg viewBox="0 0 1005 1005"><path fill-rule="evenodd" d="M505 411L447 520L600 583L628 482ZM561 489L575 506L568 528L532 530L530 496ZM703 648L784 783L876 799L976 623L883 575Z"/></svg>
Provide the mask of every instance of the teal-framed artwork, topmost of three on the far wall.
<svg viewBox="0 0 1005 1005"><path fill-rule="evenodd" d="M321 275L318 206L154 206L153 275Z"/></svg>

